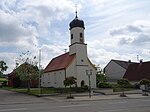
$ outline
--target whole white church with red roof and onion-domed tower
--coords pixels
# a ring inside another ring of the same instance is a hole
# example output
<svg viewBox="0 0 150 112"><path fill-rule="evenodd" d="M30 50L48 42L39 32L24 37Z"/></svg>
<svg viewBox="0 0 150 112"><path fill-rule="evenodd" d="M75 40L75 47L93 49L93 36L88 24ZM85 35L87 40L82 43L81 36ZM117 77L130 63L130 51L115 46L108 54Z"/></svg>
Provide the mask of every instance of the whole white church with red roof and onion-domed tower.
<svg viewBox="0 0 150 112"><path fill-rule="evenodd" d="M84 37L84 21L77 16L69 24L69 52L53 58L41 76L42 87L65 87L66 77L74 76L77 87L96 88L96 68L87 56L87 44Z"/></svg>

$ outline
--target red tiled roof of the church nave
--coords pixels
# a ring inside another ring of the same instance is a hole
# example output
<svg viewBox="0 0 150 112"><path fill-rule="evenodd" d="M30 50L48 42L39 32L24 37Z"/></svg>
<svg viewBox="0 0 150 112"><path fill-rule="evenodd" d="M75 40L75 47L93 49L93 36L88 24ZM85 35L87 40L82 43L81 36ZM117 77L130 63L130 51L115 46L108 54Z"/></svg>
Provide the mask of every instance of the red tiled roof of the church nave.
<svg viewBox="0 0 150 112"><path fill-rule="evenodd" d="M65 69L75 58L75 54L69 55L69 52L53 58L45 68L44 72L51 72Z"/></svg>

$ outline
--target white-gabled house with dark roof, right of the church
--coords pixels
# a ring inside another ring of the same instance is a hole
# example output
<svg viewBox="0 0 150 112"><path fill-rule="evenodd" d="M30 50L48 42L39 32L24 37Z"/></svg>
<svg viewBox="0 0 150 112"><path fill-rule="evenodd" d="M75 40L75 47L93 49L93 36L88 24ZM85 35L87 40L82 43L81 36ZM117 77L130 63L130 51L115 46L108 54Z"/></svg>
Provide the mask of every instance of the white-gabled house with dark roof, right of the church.
<svg viewBox="0 0 150 112"><path fill-rule="evenodd" d="M108 82L116 83L118 79L123 78L125 72L127 71L129 65L131 63L129 61L122 61L122 60L111 60L105 67L104 72L107 76Z"/></svg>

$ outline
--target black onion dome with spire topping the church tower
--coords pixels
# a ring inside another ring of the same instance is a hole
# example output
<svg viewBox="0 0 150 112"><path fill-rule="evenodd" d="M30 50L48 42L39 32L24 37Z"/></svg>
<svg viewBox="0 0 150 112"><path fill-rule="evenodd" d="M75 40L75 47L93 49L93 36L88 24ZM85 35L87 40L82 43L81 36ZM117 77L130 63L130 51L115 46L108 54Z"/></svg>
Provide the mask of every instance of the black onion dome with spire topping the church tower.
<svg viewBox="0 0 150 112"><path fill-rule="evenodd" d="M81 27L85 29L84 21L81 19L78 19L77 12L76 12L76 17L70 22L69 26L70 26L70 30L74 27Z"/></svg>

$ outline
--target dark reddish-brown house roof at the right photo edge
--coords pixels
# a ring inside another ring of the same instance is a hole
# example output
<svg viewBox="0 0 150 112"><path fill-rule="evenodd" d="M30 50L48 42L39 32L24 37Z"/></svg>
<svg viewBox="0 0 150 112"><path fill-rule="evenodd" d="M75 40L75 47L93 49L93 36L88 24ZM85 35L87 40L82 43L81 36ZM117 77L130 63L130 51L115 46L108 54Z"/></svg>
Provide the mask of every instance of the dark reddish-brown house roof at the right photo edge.
<svg viewBox="0 0 150 112"><path fill-rule="evenodd" d="M130 64L123 78L127 78L129 81L150 79L150 61Z"/></svg>

